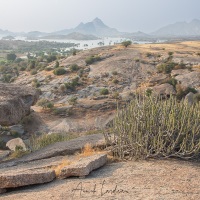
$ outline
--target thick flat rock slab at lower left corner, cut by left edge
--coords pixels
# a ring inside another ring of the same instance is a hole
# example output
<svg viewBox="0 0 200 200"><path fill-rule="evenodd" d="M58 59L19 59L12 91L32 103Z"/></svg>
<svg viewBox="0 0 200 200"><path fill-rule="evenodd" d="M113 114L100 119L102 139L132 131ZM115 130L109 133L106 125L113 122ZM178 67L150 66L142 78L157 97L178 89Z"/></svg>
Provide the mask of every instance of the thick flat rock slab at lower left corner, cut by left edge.
<svg viewBox="0 0 200 200"><path fill-rule="evenodd" d="M54 170L35 169L0 174L0 188L16 188L51 182L56 178Z"/></svg>

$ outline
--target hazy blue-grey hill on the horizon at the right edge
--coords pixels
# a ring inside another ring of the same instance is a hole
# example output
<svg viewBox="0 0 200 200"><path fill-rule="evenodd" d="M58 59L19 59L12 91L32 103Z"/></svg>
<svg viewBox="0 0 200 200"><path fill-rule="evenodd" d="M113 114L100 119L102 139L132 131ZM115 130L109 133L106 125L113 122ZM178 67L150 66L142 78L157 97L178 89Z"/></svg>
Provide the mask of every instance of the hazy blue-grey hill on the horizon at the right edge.
<svg viewBox="0 0 200 200"><path fill-rule="evenodd" d="M200 36L200 20L194 19L191 22L177 22L164 26L152 33L156 36Z"/></svg>

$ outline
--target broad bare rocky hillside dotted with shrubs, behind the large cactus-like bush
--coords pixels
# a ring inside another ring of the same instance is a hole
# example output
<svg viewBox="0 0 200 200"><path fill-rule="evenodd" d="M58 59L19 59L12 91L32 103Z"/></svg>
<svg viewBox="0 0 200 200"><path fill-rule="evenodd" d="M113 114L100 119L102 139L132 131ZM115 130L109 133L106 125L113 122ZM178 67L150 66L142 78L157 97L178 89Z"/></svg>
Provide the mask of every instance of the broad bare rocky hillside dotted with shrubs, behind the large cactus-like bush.
<svg viewBox="0 0 200 200"><path fill-rule="evenodd" d="M55 62L49 65L50 71L38 71L35 75L20 72L16 84L32 86L36 80L42 92L40 98L52 101L57 110L64 110L55 115L36 105L31 123L25 128L29 133L84 132L103 128L113 118L117 102L125 104L136 92L150 88L158 94L176 94L175 88L166 84L170 78L175 78L184 87L200 91L199 47L199 41L100 47L59 60L60 66L67 71L65 75L54 75ZM157 66L166 61L169 52L173 53L172 62L183 63L186 68L172 70L169 74L158 73ZM86 58L92 55L98 55L101 60L86 65ZM74 91L61 91L63 84L80 75L70 71L73 64L83 72L80 84ZM109 94L100 95L102 88L108 89ZM72 97L77 98L76 105L69 105Z"/></svg>

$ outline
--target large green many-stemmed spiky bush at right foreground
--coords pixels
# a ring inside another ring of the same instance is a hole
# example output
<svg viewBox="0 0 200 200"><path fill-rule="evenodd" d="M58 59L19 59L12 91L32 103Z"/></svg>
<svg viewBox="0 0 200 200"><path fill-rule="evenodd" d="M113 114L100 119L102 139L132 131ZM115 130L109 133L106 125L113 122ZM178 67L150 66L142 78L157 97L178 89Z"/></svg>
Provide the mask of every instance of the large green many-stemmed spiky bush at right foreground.
<svg viewBox="0 0 200 200"><path fill-rule="evenodd" d="M104 135L122 159L199 157L199 110L200 103L190 106L172 96L138 97L118 111Z"/></svg>

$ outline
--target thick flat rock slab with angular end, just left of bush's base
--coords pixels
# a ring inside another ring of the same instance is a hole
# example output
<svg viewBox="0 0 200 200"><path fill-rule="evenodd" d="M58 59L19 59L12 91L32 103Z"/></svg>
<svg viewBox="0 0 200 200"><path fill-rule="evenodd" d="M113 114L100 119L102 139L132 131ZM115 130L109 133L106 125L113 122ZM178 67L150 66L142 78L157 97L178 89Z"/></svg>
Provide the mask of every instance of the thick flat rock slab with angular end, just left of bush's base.
<svg viewBox="0 0 200 200"><path fill-rule="evenodd" d="M106 154L96 154L89 157L81 158L78 162L61 169L60 178L67 178L71 176L87 176L91 171L105 165L106 162Z"/></svg>

